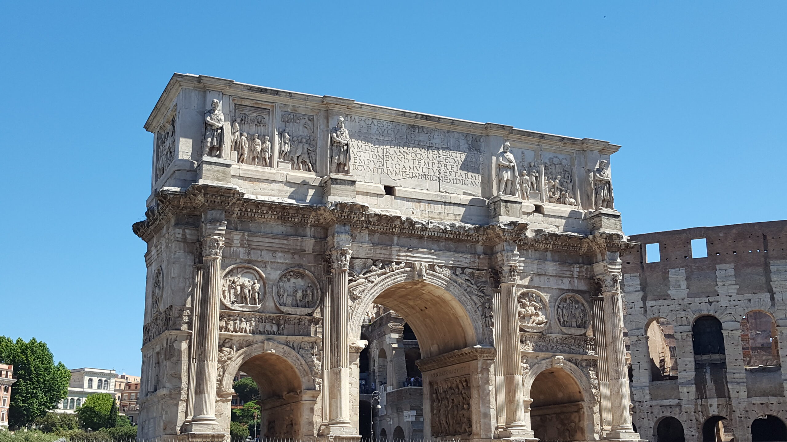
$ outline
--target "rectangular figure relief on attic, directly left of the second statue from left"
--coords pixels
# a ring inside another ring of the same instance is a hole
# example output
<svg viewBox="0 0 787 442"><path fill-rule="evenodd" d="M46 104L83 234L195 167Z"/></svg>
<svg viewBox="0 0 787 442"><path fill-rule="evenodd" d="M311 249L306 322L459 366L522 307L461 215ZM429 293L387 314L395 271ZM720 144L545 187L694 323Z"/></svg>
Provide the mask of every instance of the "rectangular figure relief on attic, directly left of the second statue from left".
<svg viewBox="0 0 787 442"><path fill-rule="evenodd" d="M279 128L279 160L289 161L296 171L313 172L317 164L314 116L282 112Z"/></svg>

